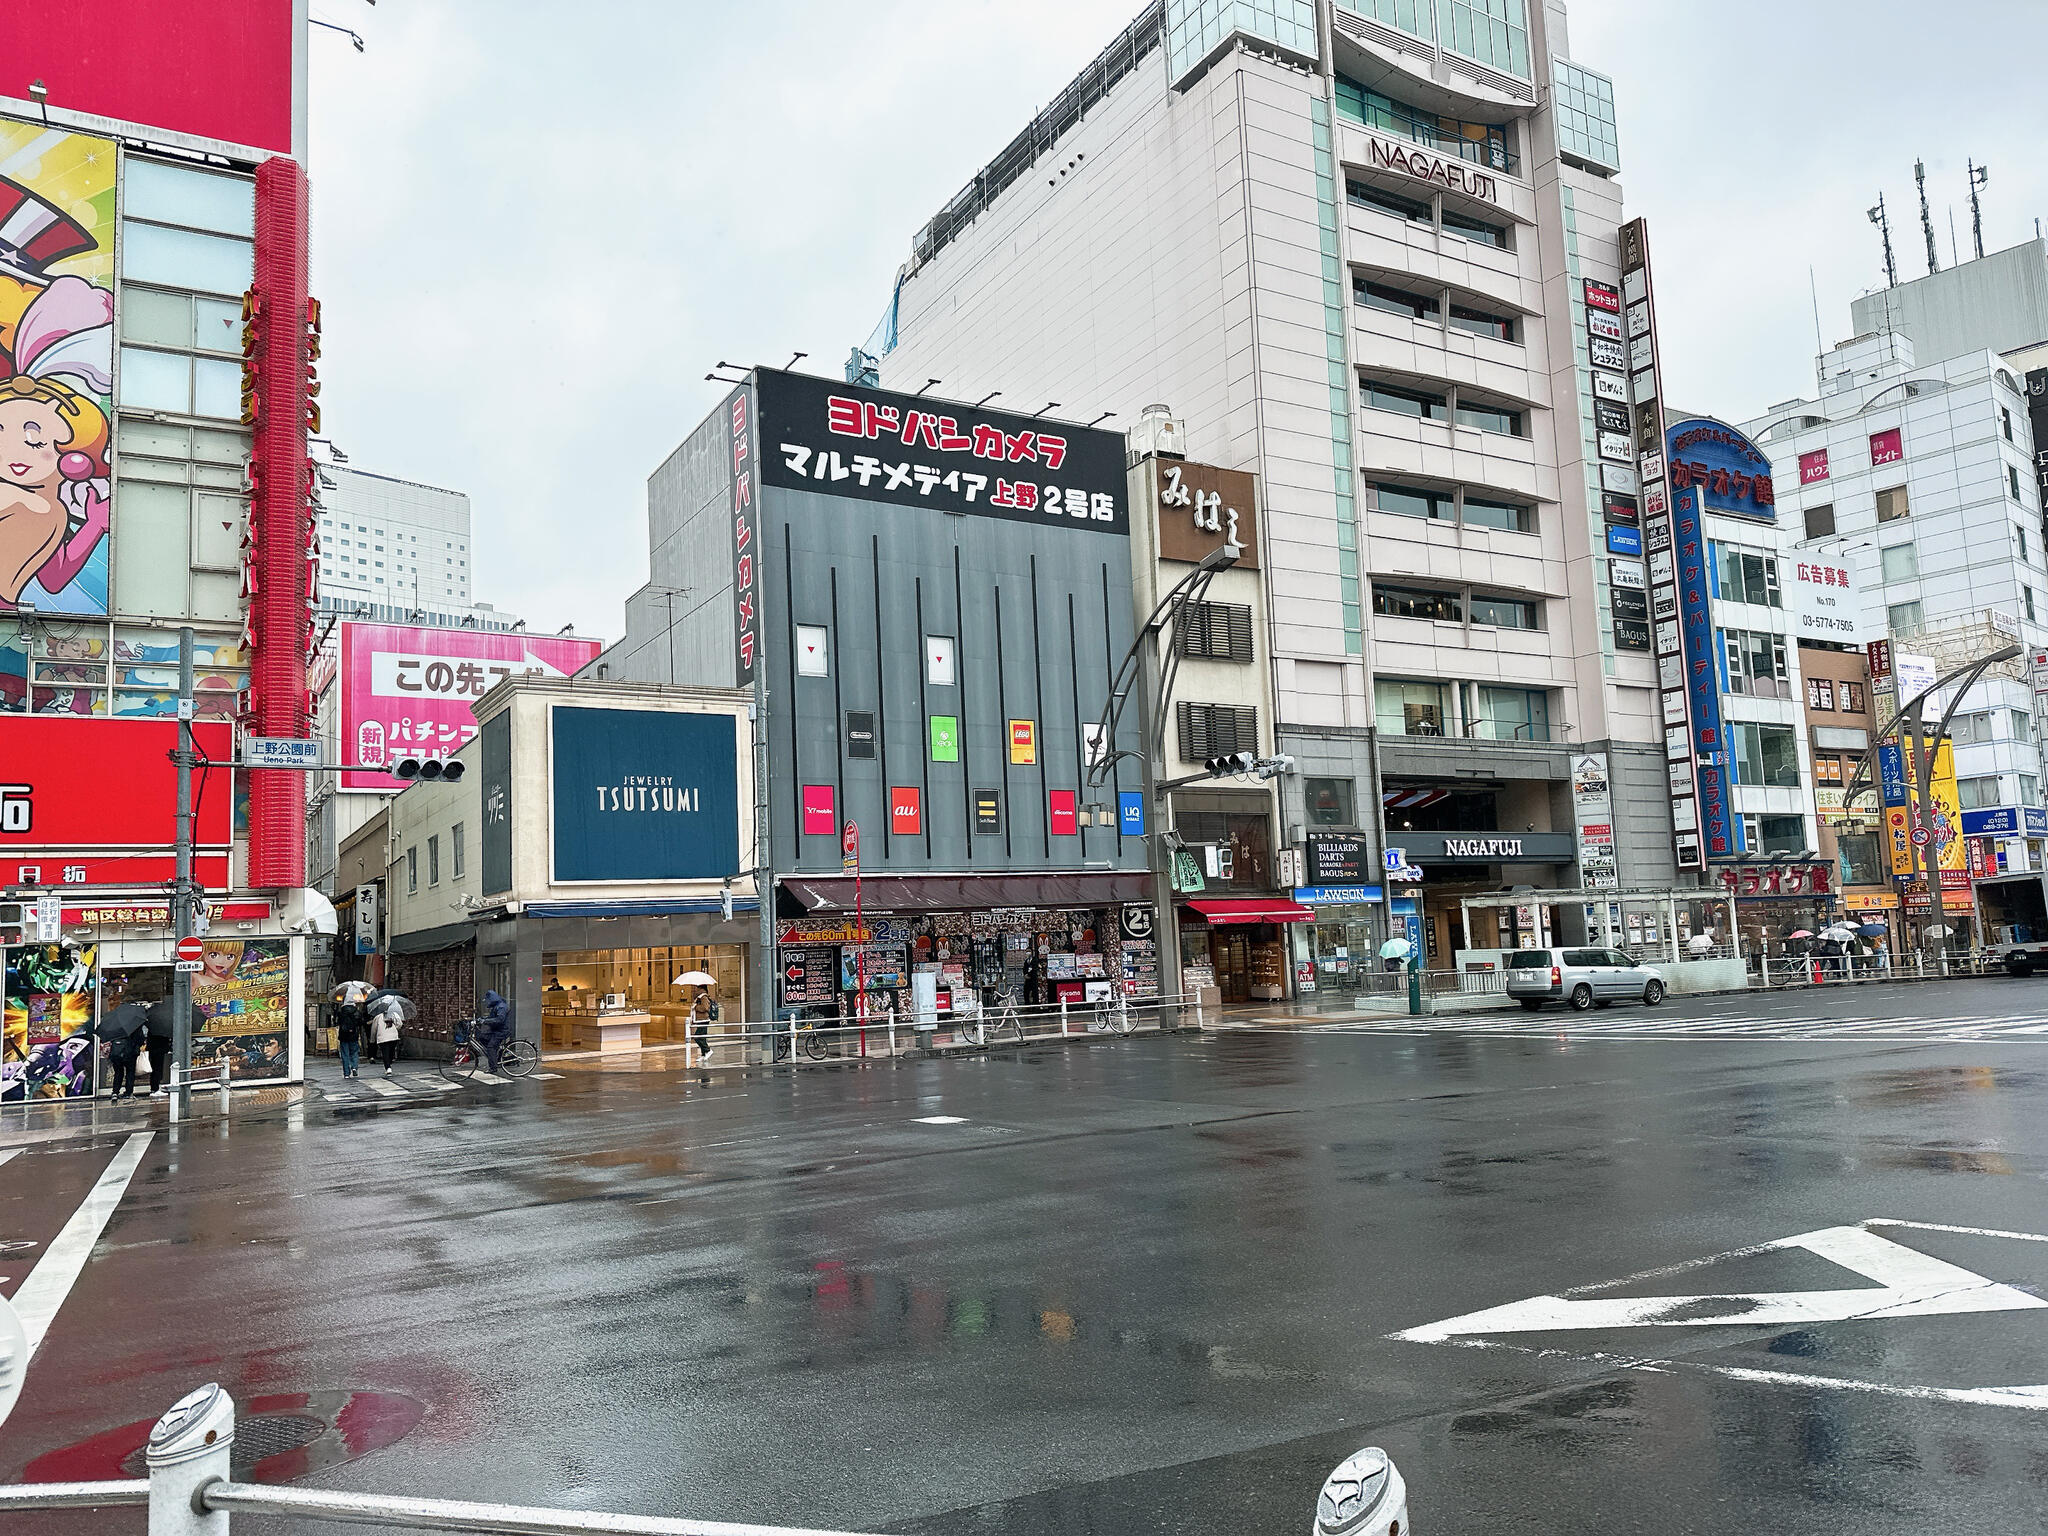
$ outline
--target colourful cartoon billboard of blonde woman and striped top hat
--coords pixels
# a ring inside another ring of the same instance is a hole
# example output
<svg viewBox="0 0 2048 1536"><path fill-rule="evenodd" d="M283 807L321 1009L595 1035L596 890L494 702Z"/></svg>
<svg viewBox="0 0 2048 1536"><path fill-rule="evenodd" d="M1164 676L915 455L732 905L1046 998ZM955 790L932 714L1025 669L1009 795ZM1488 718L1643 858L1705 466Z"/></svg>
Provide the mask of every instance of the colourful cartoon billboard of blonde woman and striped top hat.
<svg viewBox="0 0 2048 1536"><path fill-rule="evenodd" d="M115 145L0 121L0 612L106 612Z"/></svg>

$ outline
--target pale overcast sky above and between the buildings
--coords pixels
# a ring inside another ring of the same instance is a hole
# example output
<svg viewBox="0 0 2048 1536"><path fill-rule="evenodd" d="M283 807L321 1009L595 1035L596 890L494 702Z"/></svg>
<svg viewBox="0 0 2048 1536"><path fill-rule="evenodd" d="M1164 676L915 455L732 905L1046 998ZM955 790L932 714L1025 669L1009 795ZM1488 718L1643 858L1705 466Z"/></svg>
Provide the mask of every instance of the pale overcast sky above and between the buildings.
<svg viewBox="0 0 2048 1536"><path fill-rule="evenodd" d="M721 358L838 373L911 233L1139 0L315 0L313 291L350 465L469 494L475 596L614 637ZM1812 389L1882 285L2048 217L2044 0L1571 0L1651 219L1671 397Z"/></svg>

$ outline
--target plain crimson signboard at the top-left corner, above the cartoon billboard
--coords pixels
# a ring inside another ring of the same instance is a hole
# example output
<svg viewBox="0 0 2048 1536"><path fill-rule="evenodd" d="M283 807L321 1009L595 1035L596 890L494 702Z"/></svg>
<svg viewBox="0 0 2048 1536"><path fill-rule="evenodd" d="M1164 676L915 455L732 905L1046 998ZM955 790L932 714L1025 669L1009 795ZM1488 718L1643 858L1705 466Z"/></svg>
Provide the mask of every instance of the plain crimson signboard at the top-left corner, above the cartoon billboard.
<svg viewBox="0 0 2048 1536"><path fill-rule="evenodd" d="M291 154L293 0L41 0L0 27L0 96Z"/></svg>

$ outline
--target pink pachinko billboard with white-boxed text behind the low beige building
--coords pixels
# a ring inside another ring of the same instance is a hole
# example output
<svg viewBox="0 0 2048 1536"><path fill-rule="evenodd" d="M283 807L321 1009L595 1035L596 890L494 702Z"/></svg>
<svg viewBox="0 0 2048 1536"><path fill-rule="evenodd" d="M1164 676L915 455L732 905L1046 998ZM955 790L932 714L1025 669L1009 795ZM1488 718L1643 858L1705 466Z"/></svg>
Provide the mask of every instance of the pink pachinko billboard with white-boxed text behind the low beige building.
<svg viewBox="0 0 2048 1536"><path fill-rule="evenodd" d="M477 733L473 705L506 678L575 670L594 639L414 625L342 625L342 762L365 770L401 758L449 758ZM387 772L342 774L342 788L406 788Z"/></svg>

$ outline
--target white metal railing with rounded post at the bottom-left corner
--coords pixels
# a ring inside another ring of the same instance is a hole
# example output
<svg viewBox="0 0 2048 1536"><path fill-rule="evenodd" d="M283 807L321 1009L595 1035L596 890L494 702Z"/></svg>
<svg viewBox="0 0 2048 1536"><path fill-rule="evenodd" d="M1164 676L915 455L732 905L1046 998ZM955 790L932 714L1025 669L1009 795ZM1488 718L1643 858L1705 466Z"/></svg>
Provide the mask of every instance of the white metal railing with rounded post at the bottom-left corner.
<svg viewBox="0 0 2048 1536"><path fill-rule="evenodd" d="M289 1516L385 1530L496 1532L498 1536L840 1536L793 1526L745 1526L674 1516L612 1516L469 1499L414 1499L334 1489L236 1483L229 1458L236 1405L219 1386L180 1399L150 1432L147 1479L123 1483L20 1483L0 1487L0 1513L23 1509L147 1507L150 1536L229 1536L233 1516Z"/></svg>

